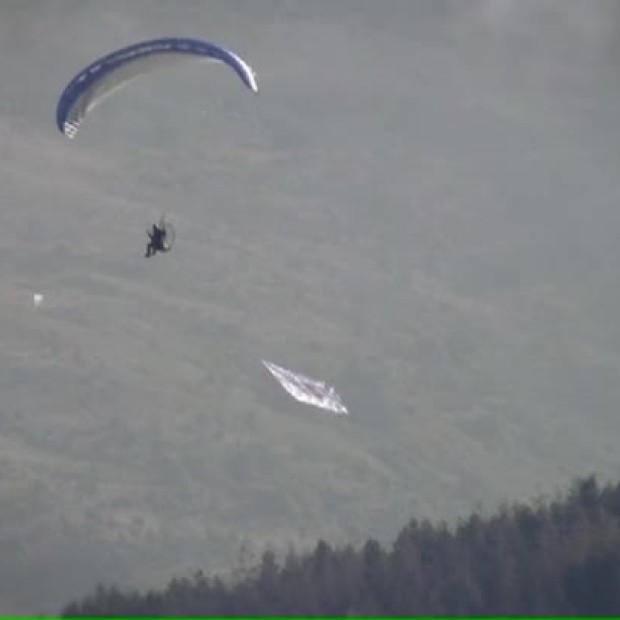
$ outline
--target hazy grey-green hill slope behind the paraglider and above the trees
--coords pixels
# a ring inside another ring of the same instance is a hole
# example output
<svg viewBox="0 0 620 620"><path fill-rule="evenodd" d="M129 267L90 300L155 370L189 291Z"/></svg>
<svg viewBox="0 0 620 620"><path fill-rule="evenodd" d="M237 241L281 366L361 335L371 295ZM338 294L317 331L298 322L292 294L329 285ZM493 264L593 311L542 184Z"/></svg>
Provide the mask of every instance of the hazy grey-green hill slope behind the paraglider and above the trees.
<svg viewBox="0 0 620 620"><path fill-rule="evenodd" d="M617 471L617 9L432 6L0 7L7 610ZM56 132L83 64L171 33L261 94L186 68Z"/></svg>

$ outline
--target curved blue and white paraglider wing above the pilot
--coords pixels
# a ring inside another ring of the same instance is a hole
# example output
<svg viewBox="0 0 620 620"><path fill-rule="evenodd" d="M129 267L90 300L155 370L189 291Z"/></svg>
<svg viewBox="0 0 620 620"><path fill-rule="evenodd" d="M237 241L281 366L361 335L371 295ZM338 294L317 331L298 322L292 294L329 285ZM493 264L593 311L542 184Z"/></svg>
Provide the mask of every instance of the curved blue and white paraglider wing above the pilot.
<svg viewBox="0 0 620 620"><path fill-rule="evenodd" d="M171 64L205 60L228 65L245 86L258 93L254 70L234 52L200 39L154 39L112 52L80 71L58 100L56 125L74 138L86 115L131 80Z"/></svg>

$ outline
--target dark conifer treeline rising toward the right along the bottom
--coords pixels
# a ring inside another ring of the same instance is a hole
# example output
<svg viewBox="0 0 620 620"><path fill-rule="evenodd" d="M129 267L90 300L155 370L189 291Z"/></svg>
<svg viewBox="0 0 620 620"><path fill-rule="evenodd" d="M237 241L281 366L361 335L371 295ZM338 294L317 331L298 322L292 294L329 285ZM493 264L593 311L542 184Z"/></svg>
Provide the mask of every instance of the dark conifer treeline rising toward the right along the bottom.
<svg viewBox="0 0 620 620"><path fill-rule="evenodd" d="M411 521L389 548L265 552L234 580L197 573L144 594L100 586L65 616L620 614L620 484L561 499Z"/></svg>

